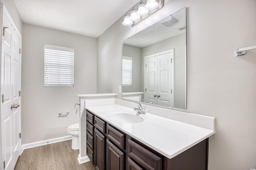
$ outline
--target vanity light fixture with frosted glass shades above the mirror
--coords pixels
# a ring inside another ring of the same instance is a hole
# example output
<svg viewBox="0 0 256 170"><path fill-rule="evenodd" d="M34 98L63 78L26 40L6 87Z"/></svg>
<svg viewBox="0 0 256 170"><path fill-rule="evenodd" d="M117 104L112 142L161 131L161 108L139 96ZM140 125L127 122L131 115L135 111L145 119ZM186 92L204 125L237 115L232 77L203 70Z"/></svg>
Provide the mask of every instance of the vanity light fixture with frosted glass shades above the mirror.
<svg viewBox="0 0 256 170"><path fill-rule="evenodd" d="M134 26L154 12L163 8L163 6L164 0L141 0L140 3L137 3L133 8L131 8L131 12L127 12L122 24L125 26ZM128 13L130 13L130 16Z"/></svg>

